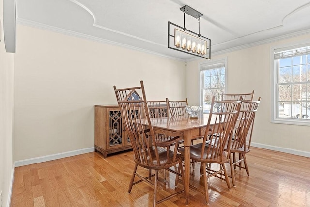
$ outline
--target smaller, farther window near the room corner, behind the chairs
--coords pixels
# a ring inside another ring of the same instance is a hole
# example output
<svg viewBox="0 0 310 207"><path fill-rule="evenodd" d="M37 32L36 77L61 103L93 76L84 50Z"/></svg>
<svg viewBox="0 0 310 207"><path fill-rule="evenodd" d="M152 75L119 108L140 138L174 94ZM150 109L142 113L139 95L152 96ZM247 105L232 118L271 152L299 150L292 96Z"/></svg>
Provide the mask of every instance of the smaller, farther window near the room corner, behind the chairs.
<svg viewBox="0 0 310 207"><path fill-rule="evenodd" d="M200 64L201 90L200 102L203 112L209 113L212 96L220 100L226 82L226 59Z"/></svg>

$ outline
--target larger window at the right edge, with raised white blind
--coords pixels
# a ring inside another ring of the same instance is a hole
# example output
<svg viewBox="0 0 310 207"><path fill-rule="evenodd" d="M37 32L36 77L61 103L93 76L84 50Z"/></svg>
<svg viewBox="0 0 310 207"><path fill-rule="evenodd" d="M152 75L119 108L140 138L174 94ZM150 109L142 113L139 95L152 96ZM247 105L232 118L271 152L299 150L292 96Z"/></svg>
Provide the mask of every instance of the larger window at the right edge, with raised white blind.
<svg viewBox="0 0 310 207"><path fill-rule="evenodd" d="M310 46L274 50L272 85L272 122L310 125Z"/></svg>

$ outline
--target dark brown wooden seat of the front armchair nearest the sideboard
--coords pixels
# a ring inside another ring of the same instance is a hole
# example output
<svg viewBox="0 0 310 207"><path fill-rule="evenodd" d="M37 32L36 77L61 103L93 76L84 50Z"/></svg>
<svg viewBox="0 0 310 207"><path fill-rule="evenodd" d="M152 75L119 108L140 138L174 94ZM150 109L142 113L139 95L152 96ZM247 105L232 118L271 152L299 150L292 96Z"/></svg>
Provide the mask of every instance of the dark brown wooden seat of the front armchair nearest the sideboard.
<svg viewBox="0 0 310 207"><path fill-rule="evenodd" d="M158 151L159 165L156 159L155 148L150 149L151 157L150 156L147 157L147 160L149 163L151 163L151 158L152 158L152 165L147 164L147 163L141 163L140 160L136 159L136 157L134 157L134 160L138 165L142 167L147 166L150 169L160 170L160 169L167 168L167 166L169 165L174 166L175 163L179 163L180 161L184 159L183 155L176 154L176 158L175 160L173 160L174 152L171 150L167 150L166 148L157 147L157 151Z"/></svg>

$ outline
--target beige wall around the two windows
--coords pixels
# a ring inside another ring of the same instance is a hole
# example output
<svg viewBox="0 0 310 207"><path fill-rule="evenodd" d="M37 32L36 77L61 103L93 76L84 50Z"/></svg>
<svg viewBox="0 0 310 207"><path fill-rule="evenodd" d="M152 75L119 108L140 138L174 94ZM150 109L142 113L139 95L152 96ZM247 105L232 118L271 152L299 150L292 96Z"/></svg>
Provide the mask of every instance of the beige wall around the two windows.
<svg viewBox="0 0 310 207"><path fill-rule="evenodd" d="M287 148L310 153L309 126L270 123L271 48L283 44L310 42L309 40L310 34L212 56L212 60L227 58L228 80L226 87L228 93L246 93L255 90L254 99L257 99L258 96L262 97L252 140L257 146L272 149ZM196 104L200 99L200 94L196 91L200 87L199 63L201 62L207 61L199 59L188 62L186 66L186 94L189 100L196 100Z"/></svg>

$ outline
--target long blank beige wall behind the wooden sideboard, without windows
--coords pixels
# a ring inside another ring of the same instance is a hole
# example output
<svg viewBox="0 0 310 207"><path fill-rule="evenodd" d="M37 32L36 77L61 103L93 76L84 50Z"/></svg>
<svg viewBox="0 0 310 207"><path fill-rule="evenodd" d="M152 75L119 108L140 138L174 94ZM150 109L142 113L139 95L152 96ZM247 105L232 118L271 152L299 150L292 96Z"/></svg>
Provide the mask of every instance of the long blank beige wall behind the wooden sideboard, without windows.
<svg viewBox="0 0 310 207"><path fill-rule="evenodd" d="M184 98L183 61L18 25L14 160L94 147L94 105L144 81L147 99Z"/></svg>

